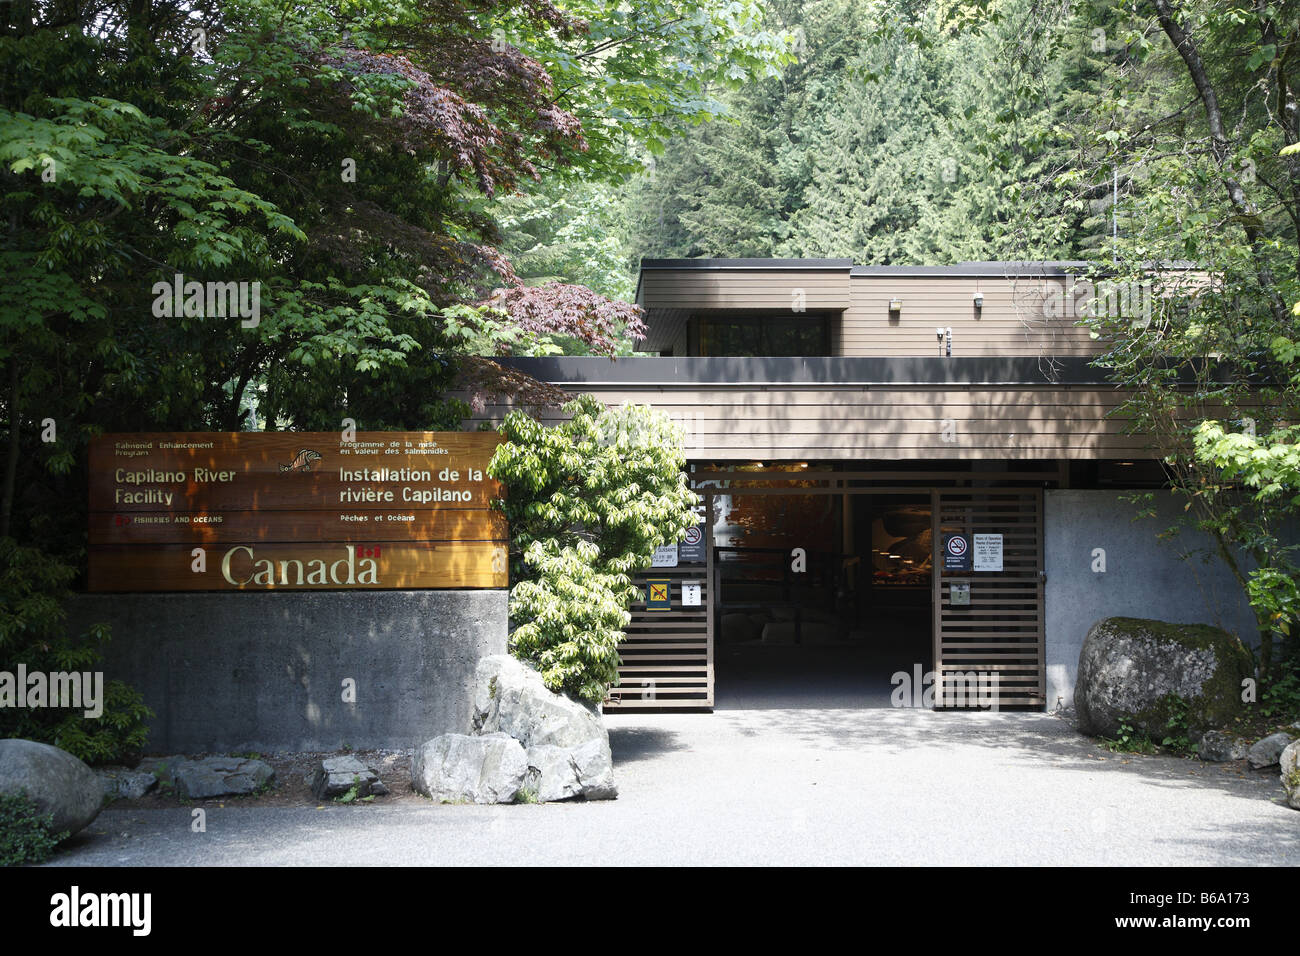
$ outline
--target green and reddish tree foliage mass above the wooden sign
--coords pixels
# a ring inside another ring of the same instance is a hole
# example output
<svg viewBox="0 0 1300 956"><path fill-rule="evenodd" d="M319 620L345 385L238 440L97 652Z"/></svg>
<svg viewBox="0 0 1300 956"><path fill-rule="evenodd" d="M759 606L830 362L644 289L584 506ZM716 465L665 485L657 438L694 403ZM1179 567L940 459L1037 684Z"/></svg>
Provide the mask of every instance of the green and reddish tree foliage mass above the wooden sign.
<svg viewBox="0 0 1300 956"><path fill-rule="evenodd" d="M0 536L69 563L94 434L455 429L468 355L625 350L601 315L627 310L552 287L630 294L604 194L547 222L549 198L788 59L755 0L73 0L0 25ZM159 315L177 273L259 284L260 321ZM526 329L485 306L503 287L549 290Z"/></svg>

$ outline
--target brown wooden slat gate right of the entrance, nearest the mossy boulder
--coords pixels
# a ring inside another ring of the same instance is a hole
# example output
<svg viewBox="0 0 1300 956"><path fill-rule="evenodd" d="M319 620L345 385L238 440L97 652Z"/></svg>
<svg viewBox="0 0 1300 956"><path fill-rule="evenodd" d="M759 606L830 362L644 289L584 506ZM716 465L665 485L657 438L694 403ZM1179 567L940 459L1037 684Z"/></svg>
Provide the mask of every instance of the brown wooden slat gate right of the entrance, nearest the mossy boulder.
<svg viewBox="0 0 1300 956"><path fill-rule="evenodd" d="M1041 706L1044 674L1041 489L935 489L936 706ZM944 570L948 533L1002 536L1002 571ZM953 583L970 605L953 606Z"/></svg>

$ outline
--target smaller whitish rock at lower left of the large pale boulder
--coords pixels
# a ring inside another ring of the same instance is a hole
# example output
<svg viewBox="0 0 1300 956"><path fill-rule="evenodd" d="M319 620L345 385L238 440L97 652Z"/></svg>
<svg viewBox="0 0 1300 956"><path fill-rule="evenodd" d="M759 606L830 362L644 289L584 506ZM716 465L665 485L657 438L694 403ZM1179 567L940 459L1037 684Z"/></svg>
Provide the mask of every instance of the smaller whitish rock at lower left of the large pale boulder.
<svg viewBox="0 0 1300 956"><path fill-rule="evenodd" d="M528 777L524 748L508 734L443 734L416 750L411 786L442 803L514 803Z"/></svg>

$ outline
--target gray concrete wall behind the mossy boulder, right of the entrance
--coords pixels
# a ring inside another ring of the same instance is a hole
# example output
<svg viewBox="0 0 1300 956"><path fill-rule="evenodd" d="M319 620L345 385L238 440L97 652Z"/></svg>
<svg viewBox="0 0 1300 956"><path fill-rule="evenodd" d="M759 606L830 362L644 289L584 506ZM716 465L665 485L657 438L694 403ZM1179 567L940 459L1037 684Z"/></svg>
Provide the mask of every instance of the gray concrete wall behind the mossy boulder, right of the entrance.
<svg viewBox="0 0 1300 956"><path fill-rule="evenodd" d="M1044 492L1048 710L1058 698L1072 704L1079 650L1101 618L1214 624L1248 645L1258 643L1251 606L1223 562L1192 554L1210 548L1209 538L1187 529L1169 540L1156 536L1183 515L1173 493L1157 492L1157 518L1136 522L1138 509L1121 501L1123 494ZM1104 574L1092 570L1096 548L1106 553Z"/></svg>

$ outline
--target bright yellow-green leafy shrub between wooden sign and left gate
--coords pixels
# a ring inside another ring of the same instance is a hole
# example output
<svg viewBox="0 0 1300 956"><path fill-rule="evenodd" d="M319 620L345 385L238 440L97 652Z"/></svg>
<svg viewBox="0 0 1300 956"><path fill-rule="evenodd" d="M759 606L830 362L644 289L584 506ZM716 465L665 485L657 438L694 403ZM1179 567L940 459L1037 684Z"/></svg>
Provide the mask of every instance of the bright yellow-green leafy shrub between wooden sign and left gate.
<svg viewBox="0 0 1300 956"><path fill-rule="evenodd" d="M547 687L599 702L618 682L632 576L697 519L681 433L645 406L592 395L545 427L511 412L489 473L506 488L511 529L511 650Z"/></svg>

